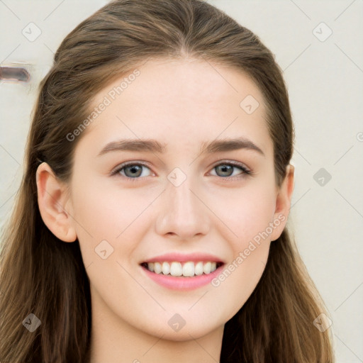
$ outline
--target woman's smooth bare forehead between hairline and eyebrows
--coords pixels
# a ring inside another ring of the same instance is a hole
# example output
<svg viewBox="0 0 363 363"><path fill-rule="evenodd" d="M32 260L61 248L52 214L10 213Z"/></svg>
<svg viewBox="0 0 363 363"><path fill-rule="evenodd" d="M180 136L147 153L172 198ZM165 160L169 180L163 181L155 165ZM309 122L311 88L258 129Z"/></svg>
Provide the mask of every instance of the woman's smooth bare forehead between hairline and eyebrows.
<svg viewBox="0 0 363 363"><path fill-rule="evenodd" d="M101 104L86 129L98 140L120 135L185 146L249 135L271 142L258 86L243 72L204 60L149 60L99 91L92 109Z"/></svg>

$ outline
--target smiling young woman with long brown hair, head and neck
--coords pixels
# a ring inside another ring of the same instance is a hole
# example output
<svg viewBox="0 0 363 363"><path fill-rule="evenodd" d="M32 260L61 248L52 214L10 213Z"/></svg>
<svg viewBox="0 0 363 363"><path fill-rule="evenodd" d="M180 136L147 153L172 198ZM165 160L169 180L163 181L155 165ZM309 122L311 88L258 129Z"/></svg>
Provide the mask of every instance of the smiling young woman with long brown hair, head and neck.
<svg viewBox="0 0 363 363"><path fill-rule="evenodd" d="M333 362L289 237L281 69L198 0L113 1L40 84L1 250L1 362Z"/></svg>

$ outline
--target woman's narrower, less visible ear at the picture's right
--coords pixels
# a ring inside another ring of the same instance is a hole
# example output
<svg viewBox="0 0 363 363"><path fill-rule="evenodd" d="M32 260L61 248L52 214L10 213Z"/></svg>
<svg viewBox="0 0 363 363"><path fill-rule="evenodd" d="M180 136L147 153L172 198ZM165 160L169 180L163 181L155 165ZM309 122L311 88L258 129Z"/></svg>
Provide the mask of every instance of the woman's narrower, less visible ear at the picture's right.
<svg viewBox="0 0 363 363"><path fill-rule="evenodd" d="M285 228L287 218L289 217L291 197L292 192L294 191L294 171L294 166L289 164L286 168L286 177L277 193L274 220L272 220L274 225L271 234L272 241L277 240L277 238L280 237Z"/></svg>

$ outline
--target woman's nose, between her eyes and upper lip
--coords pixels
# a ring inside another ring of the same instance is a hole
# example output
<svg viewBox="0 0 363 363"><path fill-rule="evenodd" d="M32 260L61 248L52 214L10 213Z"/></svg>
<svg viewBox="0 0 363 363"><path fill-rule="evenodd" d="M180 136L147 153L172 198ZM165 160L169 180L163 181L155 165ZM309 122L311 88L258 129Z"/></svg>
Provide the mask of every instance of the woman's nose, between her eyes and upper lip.
<svg viewBox="0 0 363 363"><path fill-rule="evenodd" d="M172 235L175 239L191 240L194 236L206 235L210 228L209 209L203 196L189 181L179 186L168 181L160 198L160 213L156 220L156 231L160 235Z"/></svg>

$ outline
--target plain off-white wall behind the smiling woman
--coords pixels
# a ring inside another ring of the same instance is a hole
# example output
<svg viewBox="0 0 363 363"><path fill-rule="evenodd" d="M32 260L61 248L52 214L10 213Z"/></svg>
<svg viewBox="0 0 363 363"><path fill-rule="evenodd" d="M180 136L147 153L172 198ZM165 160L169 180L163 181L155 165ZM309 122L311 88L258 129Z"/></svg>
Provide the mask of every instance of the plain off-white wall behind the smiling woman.
<svg viewBox="0 0 363 363"><path fill-rule="evenodd" d="M284 70L296 126L289 222L330 311L337 362L363 362L363 1L208 2L259 35ZM1 226L21 180L38 83L65 35L106 3L0 0L1 65L24 63L32 76L0 81ZM37 28L33 41L22 33Z"/></svg>

